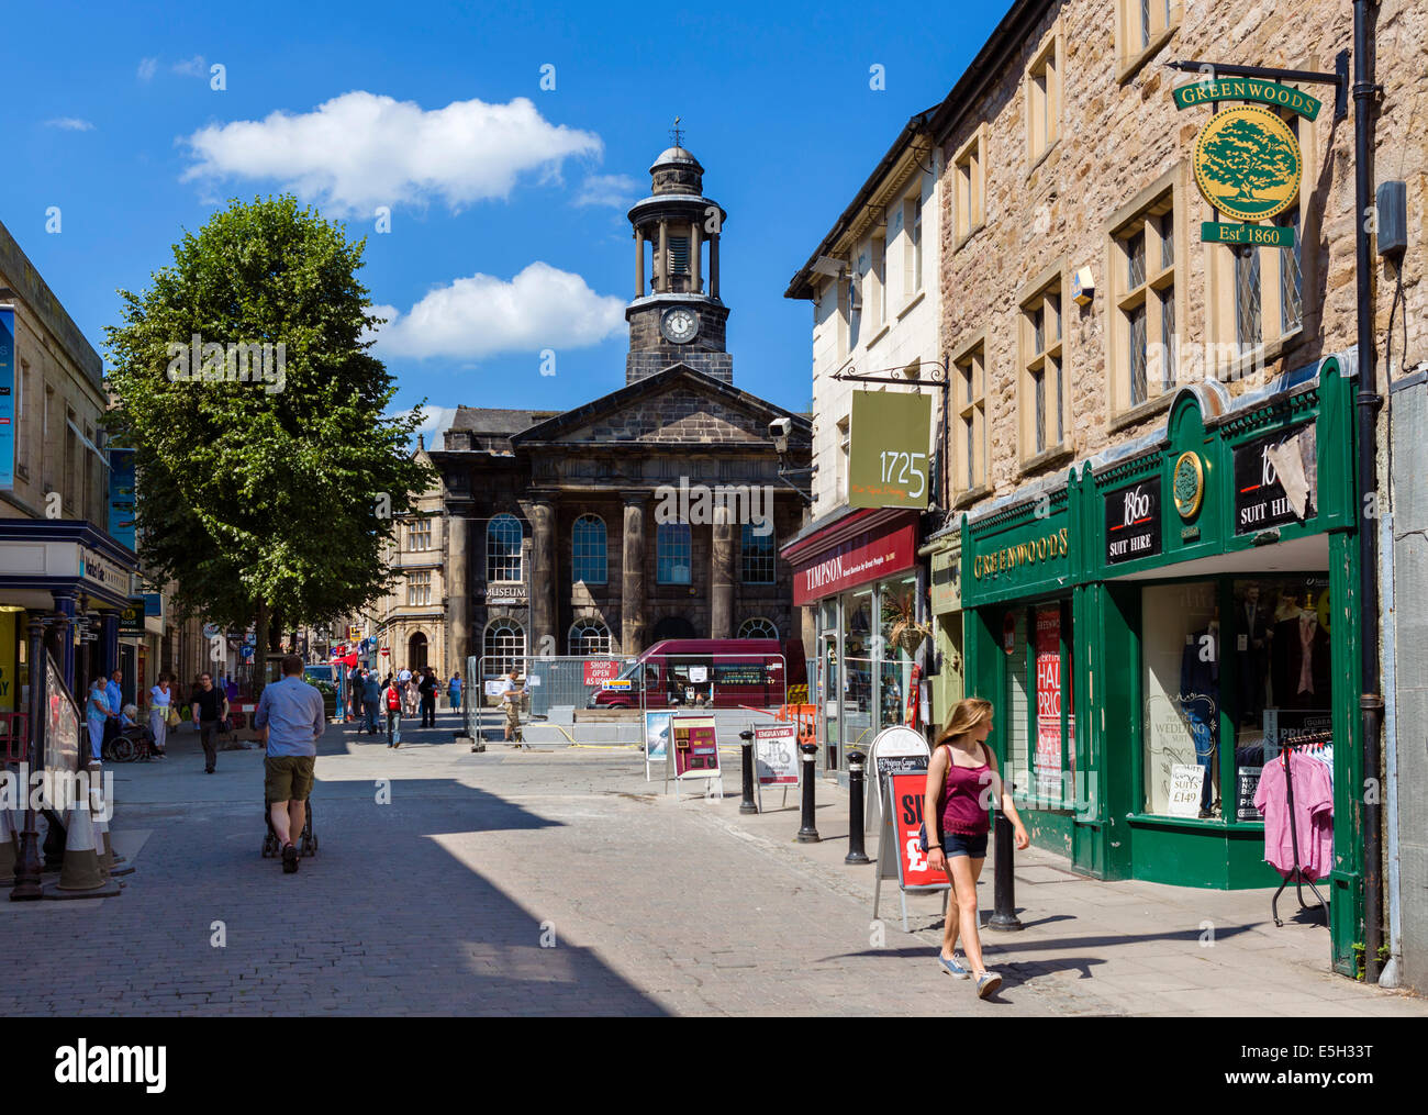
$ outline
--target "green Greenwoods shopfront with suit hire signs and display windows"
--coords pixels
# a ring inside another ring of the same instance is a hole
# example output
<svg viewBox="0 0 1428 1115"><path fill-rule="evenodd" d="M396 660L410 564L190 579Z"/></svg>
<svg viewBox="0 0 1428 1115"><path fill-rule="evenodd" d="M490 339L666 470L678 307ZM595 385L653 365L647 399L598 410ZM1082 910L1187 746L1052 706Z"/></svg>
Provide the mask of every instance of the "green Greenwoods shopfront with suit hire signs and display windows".
<svg viewBox="0 0 1428 1115"><path fill-rule="evenodd" d="M1185 388L1164 428L961 527L967 692L997 705L1032 842L1097 878L1278 887L1259 771L1312 741L1344 974L1362 939L1352 368Z"/></svg>

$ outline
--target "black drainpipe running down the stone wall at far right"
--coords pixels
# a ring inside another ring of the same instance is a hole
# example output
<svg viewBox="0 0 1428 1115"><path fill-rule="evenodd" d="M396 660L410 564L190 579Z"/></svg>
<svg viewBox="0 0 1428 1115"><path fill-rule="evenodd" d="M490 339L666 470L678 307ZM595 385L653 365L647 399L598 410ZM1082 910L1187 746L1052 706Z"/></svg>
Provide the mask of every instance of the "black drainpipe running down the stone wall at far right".
<svg viewBox="0 0 1428 1115"><path fill-rule="evenodd" d="M1369 56L1372 29L1371 0L1354 0L1354 208L1355 278L1358 280L1358 491L1362 497L1378 493L1378 355L1374 348L1372 246L1367 228L1372 206L1374 156L1374 60ZM1359 511L1362 514L1362 508ZM1374 524L1377 527L1377 524ZM1359 722L1364 737L1364 787L1379 782L1379 728L1384 720L1384 695L1378 672L1378 531L1359 523L1359 648L1364 690L1359 695ZM1367 795L1364 804L1364 981L1377 984L1382 942L1382 832L1378 801L1382 794Z"/></svg>

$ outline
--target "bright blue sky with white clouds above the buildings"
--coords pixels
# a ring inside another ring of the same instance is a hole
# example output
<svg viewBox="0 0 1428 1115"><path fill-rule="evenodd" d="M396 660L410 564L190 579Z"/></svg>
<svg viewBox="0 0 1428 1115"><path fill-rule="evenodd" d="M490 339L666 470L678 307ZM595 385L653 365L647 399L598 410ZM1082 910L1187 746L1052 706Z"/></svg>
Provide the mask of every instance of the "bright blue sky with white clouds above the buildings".
<svg viewBox="0 0 1428 1115"><path fill-rule="evenodd" d="M811 394L813 314L783 297L788 278L1005 10L11 9L0 218L100 351L116 288L146 287L183 228L230 197L288 188L367 234L363 280L397 311L377 350L394 405L588 401L624 383L625 210L678 114L730 214L734 383L793 410ZM874 64L884 90L870 89ZM390 233L376 231L378 204Z"/></svg>

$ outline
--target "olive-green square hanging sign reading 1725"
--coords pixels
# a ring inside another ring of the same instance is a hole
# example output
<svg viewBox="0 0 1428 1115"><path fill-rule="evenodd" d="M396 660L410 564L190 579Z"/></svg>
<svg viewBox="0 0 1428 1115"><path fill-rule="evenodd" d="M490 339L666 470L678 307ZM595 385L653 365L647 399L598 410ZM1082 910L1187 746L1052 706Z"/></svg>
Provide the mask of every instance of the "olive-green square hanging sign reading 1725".
<svg viewBox="0 0 1428 1115"><path fill-rule="evenodd" d="M854 391L848 417L848 505L927 510L932 397Z"/></svg>

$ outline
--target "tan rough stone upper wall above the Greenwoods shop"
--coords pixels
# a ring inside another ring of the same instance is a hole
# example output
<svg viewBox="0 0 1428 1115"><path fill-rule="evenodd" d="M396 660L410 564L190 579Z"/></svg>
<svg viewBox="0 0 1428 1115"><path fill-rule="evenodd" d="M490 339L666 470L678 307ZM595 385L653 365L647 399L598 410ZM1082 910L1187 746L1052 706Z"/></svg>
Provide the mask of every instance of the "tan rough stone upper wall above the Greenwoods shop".
<svg viewBox="0 0 1428 1115"><path fill-rule="evenodd" d="M1067 277L1090 267L1095 298L1080 308L1064 303L1064 368L1070 398L1071 455L1080 458L1132 440L1164 423L1172 393L1131 414L1112 413L1108 363L1111 307L1110 234L1112 214L1152 184L1174 188L1178 290L1177 334L1182 385L1198 368L1187 354L1222 338L1224 310L1214 308L1215 283L1231 248L1201 244L1200 224L1211 218L1190 173L1192 144L1210 109L1177 111L1171 86L1192 80L1165 67L1171 60L1212 60L1307 70L1334 69L1334 56L1352 46L1347 3L1312 0L1298 6L1247 3L1177 4L1172 34L1125 80L1118 80L1112 0L1072 0L1054 6L998 79L954 131L942 154L948 171L941 194L941 344L951 357L985 333L987 421L991 441L987 498L1005 495L1037 475L1064 470L1065 461L1025 468L1018 433L1020 297L1034 276L1057 268ZM1419 284L1428 233L1428 87L1422 84L1428 29L1421 6L1388 0L1379 9L1377 80L1385 87L1377 134L1375 181L1409 184L1411 247L1404 267L1409 360L1424 358L1428 298ZM1061 133L1028 166L1025 137L1027 66L1051 36L1062 40ZM1305 144L1304 190L1312 193L1304 226L1304 324L1287 344L1272 347L1261 371L1230 384L1238 394L1279 371L1298 368L1354 345L1354 176L1352 110L1334 123L1332 87L1307 89L1324 101ZM985 224L957 241L952 160L985 124ZM1262 251L1269 251L1268 248ZM1375 257L1379 358L1392 298L1392 268ZM1221 290L1221 297L1224 291ZM1224 303L1220 303L1224 307ZM1232 304L1231 304L1232 308ZM1215 326L1215 314L1220 324ZM1395 327L1395 358L1402 350L1402 317ZM1382 383L1382 373L1379 375ZM952 454L955 461L957 454ZM965 487L965 485L964 485Z"/></svg>

